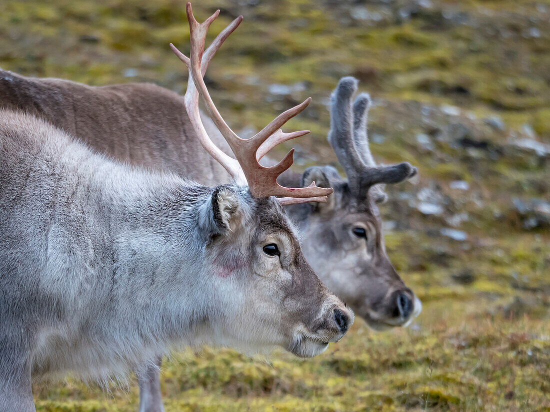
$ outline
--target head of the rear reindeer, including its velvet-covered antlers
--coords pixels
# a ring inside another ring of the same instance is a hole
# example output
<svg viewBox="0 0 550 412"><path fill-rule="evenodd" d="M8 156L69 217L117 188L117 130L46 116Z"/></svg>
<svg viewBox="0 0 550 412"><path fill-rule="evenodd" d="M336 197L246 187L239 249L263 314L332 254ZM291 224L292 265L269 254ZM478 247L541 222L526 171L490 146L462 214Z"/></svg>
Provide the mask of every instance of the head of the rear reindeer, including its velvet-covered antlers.
<svg viewBox="0 0 550 412"><path fill-rule="evenodd" d="M357 80L344 77L331 99L331 143L347 179L332 166L306 169L302 184L333 187L326 203L301 207L302 247L313 268L355 313L375 329L407 325L422 305L393 268L382 233L377 203L386 200L384 183L414 176L409 163L379 166L367 138L370 97L361 93L352 102Z"/></svg>

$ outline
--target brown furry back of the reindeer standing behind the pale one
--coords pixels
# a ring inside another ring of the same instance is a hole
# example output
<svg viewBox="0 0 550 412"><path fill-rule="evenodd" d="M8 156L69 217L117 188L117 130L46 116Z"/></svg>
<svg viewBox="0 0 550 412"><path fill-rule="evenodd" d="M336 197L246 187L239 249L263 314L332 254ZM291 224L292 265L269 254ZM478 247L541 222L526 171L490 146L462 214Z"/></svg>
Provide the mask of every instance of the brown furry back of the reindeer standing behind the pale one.
<svg viewBox="0 0 550 412"><path fill-rule="evenodd" d="M189 174L199 155L195 180L227 182L219 179L227 176L222 166L195 138L183 98L151 83L94 87L0 70L0 107L39 115L97 151L134 165ZM203 121L214 127L206 116ZM223 138L216 143L228 151Z"/></svg>

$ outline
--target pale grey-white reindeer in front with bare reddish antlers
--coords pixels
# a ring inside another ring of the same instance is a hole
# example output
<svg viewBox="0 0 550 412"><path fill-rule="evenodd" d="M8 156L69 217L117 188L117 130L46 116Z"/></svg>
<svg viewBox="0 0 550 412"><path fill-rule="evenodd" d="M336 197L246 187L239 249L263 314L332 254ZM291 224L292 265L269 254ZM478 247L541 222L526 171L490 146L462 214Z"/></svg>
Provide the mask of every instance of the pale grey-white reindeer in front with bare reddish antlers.
<svg viewBox="0 0 550 412"><path fill-rule="evenodd" d="M204 186L173 172L108 159L32 114L0 110L0 410L34 411L31 381L74 371L105 380L180 344L315 356L353 312L301 252L282 205L326 201L332 189L288 188L262 153L309 100L243 140L223 126L204 83L236 24L204 51L213 15L188 8L185 109L232 182ZM234 158L208 137L199 96ZM278 197L276 196L288 196Z"/></svg>

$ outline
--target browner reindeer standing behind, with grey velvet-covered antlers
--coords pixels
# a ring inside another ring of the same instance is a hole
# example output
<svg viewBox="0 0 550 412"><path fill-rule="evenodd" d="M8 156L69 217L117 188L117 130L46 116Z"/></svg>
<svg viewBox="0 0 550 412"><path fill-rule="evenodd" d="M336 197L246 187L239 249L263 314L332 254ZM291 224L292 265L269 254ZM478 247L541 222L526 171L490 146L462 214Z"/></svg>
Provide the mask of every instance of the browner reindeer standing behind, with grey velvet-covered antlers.
<svg viewBox="0 0 550 412"><path fill-rule="evenodd" d="M377 206L386 199L382 184L406 180L417 170L408 163L374 162L366 132L371 100L361 93L352 102L356 89L357 81L345 77L331 103L329 141L347 178L332 166L312 166L303 174L287 170L278 180L293 187L315 181L334 188L326 203L288 205L285 211L298 226L301 247L321 279L368 325L383 330L408 325L422 308L390 263ZM205 185L230 181L229 173L200 147L184 99L153 84L91 87L0 71L0 105L36 113L123 162L173 170ZM232 155L212 120L204 114L201 119L212 141ZM158 368L152 367L140 378L141 411L162 410L158 376Z"/></svg>

